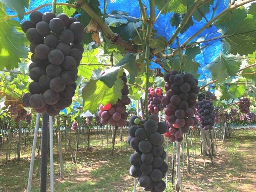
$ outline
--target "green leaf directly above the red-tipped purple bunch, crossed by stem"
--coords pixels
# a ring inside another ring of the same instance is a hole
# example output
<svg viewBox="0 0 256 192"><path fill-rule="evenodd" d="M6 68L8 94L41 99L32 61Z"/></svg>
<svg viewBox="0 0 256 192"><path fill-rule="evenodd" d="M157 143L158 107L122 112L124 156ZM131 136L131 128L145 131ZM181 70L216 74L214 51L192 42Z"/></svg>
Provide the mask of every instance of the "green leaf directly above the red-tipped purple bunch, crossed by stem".
<svg viewBox="0 0 256 192"><path fill-rule="evenodd" d="M185 54L181 56L181 61L183 63L183 71L186 73L196 73L200 64L195 62L194 58L197 54L201 53L199 46L190 47L186 49ZM174 70L180 69L180 59L178 55L170 59L170 66Z"/></svg>

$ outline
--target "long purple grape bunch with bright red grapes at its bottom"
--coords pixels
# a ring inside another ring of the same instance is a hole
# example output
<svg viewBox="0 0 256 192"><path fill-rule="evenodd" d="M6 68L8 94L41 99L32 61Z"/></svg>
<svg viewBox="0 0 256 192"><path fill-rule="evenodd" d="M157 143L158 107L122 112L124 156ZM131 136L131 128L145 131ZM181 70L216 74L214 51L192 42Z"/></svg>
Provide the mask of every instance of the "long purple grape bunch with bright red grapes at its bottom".
<svg viewBox="0 0 256 192"><path fill-rule="evenodd" d="M171 142L182 141L183 133L189 132L189 126L197 125L196 113L197 94L200 92L197 79L190 73L179 74L172 71L164 76L166 96L162 98L165 107L165 120L169 127L165 136Z"/></svg>

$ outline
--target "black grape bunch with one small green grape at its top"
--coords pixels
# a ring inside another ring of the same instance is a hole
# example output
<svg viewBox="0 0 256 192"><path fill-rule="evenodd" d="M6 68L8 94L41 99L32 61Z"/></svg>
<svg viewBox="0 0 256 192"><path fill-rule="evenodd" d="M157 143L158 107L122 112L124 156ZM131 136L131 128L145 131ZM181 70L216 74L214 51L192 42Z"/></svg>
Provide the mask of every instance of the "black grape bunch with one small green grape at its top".
<svg viewBox="0 0 256 192"><path fill-rule="evenodd" d="M164 162L167 155L162 146L164 137L161 134L167 132L168 126L159 122L155 114L150 115L147 121L132 116L129 122L128 143L135 150L129 158L129 173L138 178L138 184L145 191L162 192L166 187L162 179L168 171L168 165Z"/></svg>

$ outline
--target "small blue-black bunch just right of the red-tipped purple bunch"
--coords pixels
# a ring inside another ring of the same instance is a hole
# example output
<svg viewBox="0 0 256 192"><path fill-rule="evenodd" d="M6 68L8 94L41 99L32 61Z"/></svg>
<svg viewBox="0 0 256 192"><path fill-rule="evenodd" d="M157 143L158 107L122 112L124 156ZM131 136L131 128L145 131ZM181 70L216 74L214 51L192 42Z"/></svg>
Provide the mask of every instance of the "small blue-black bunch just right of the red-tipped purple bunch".
<svg viewBox="0 0 256 192"><path fill-rule="evenodd" d="M204 130L213 129L215 113L213 102L203 99L197 102L198 117L200 118L201 128Z"/></svg>

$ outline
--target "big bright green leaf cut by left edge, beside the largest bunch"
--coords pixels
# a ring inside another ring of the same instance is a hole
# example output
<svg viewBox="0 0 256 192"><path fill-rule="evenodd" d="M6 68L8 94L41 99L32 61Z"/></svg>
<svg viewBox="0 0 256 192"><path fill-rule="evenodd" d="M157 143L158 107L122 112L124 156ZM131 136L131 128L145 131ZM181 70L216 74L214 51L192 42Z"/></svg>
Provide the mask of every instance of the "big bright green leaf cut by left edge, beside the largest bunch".
<svg viewBox="0 0 256 192"><path fill-rule="evenodd" d="M3 7L2 7L3 8ZM27 41L23 33L18 32L20 24L7 19L3 9L0 9L0 70L11 70L18 67L20 58L27 58L28 48L24 46Z"/></svg>

